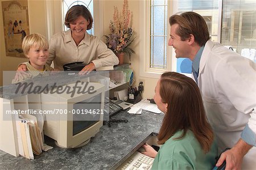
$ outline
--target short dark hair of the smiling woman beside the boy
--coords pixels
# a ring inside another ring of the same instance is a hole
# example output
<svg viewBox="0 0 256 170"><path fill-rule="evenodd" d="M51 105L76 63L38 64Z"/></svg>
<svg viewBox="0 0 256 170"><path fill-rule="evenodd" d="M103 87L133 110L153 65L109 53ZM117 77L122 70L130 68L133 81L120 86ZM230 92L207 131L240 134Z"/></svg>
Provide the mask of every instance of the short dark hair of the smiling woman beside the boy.
<svg viewBox="0 0 256 170"><path fill-rule="evenodd" d="M75 20L79 18L79 16L82 16L86 20L88 20L89 24L87 26L87 30L91 29L93 24L92 14L90 14L90 11L88 10L88 8L86 8L83 5L75 5L69 8L65 16L65 25L68 28L70 28L69 24L71 22L75 22Z"/></svg>

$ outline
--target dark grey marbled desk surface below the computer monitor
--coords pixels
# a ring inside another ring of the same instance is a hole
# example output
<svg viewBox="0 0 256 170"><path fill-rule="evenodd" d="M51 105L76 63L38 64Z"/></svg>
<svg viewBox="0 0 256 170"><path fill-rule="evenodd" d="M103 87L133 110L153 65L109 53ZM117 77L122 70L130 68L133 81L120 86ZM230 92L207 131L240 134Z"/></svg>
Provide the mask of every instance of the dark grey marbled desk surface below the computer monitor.
<svg viewBox="0 0 256 170"><path fill-rule="evenodd" d="M127 119L127 123L112 123L111 128L106 124L87 145L74 149L55 146L35 155L34 160L0 150L0 169L116 169L143 145L148 135L158 133L163 116L147 111L142 114L122 111L113 118Z"/></svg>

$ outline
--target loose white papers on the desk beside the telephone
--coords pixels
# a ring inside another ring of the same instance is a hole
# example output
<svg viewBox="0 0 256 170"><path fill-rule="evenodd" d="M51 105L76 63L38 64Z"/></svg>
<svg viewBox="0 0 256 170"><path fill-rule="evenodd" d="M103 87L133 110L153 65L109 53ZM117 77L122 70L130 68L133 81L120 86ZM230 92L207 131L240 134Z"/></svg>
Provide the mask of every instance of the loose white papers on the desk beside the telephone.
<svg viewBox="0 0 256 170"><path fill-rule="evenodd" d="M131 114L141 114L142 110L150 111L154 113L161 113L161 111L158 109L158 106L156 104L150 103L149 100L143 99L139 101L139 103L134 104L133 107L128 111L128 113Z"/></svg>

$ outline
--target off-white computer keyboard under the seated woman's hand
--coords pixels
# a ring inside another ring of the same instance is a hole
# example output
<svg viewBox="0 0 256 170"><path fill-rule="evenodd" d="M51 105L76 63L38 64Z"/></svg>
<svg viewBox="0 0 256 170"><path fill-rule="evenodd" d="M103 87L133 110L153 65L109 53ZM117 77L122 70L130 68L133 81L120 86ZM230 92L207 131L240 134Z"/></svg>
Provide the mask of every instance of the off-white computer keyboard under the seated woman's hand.
<svg viewBox="0 0 256 170"><path fill-rule="evenodd" d="M126 162L118 167L121 170L137 170L137 169L151 169L152 163L154 162L154 158L150 158L149 156L141 154L141 152L134 152Z"/></svg>

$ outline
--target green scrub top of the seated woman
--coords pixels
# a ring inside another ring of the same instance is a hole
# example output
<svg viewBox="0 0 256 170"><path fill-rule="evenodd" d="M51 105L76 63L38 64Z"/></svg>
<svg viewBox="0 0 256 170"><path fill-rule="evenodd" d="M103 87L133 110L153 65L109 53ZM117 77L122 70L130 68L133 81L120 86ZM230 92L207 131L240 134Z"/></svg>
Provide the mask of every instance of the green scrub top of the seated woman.
<svg viewBox="0 0 256 170"><path fill-rule="evenodd" d="M204 154L200 143L191 130L181 139L183 130L177 131L159 149L151 169L212 169L217 156L217 145L214 141L210 151Z"/></svg>

